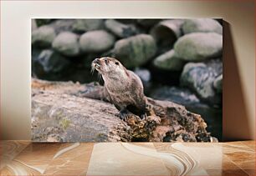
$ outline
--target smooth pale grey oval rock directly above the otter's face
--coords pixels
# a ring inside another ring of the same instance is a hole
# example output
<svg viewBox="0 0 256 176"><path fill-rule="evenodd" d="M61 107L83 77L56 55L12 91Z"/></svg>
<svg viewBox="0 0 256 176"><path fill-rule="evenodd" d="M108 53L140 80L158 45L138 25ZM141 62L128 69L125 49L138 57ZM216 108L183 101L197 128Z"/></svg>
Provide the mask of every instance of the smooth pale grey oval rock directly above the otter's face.
<svg viewBox="0 0 256 176"><path fill-rule="evenodd" d="M84 33L79 39L80 48L84 53L100 53L110 49L115 43L115 37L104 30Z"/></svg>

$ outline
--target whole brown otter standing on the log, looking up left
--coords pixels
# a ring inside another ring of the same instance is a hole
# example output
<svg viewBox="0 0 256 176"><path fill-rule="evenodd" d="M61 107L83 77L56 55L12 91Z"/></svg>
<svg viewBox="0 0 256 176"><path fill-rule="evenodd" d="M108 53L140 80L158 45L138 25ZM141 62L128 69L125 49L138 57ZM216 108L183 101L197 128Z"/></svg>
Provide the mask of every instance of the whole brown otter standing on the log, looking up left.
<svg viewBox="0 0 256 176"><path fill-rule="evenodd" d="M141 78L110 57L95 58L92 62L94 69L103 78L105 97L119 110L120 119L126 121L132 113L146 118L147 100Z"/></svg>

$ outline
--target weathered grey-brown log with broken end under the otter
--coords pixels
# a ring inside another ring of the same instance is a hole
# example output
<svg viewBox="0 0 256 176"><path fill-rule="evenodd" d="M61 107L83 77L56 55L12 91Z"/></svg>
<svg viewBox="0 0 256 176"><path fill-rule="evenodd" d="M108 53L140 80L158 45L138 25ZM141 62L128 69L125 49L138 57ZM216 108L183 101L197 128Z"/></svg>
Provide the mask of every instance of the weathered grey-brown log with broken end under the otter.
<svg viewBox="0 0 256 176"><path fill-rule="evenodd" d="M212 142L200 115L182 105L148 98L146 119L127 122L116 116L98 83L48 82L32 79L33 141L48 142Z"/></svg>

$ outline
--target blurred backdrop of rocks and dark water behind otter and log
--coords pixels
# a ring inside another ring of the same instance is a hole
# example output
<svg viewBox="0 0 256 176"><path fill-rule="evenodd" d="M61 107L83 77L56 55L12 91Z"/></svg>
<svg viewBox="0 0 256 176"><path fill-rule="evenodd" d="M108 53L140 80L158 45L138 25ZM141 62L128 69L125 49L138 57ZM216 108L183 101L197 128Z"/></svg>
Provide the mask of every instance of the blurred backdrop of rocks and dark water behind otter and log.
<svg viewBox="0 0 256 176"><path fill-rule="evenodd" d="M114 57L146 96L199 113L222 141L221 19L32 19L32 77L91 83L92 60Z"/></svg>

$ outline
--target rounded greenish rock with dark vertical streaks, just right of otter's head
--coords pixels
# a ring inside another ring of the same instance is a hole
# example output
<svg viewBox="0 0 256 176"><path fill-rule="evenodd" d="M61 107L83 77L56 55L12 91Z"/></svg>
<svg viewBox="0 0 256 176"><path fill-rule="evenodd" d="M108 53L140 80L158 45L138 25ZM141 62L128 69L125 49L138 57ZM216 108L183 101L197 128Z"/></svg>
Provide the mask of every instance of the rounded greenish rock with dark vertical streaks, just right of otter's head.
<svg viewBox="0 0 256 176"><path fill-rule="evenodd" d="M113 53L125 67L139 67L154 57L156 43L150 35L139 34L117 41Z"/></svg>

